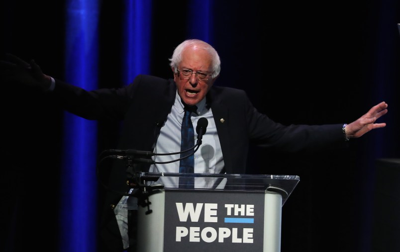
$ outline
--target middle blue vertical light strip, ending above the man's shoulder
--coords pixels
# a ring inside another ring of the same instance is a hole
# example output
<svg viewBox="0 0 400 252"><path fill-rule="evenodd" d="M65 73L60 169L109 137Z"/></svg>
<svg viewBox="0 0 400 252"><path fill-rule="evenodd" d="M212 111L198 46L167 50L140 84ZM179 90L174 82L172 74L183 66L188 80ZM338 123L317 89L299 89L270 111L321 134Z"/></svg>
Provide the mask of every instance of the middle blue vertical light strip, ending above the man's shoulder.
<svg viewBox="0 0 400 252"><path fill-rule="evenodd" d="M152 1L125 0L123 29L123 78L125 84L150 72Z"/></svg>

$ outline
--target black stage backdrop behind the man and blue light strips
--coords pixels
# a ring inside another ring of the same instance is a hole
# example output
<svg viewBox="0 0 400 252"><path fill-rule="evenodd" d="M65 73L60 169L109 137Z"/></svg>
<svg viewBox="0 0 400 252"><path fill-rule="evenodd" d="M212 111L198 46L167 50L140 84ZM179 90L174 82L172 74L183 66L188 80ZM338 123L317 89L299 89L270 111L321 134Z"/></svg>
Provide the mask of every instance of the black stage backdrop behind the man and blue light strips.
<svg viewBox="0 0 400 252"><path fill-rule="evenodd" d="M64 1L2 1L0 8L1 53L35 59L65 80ZM122 8L100 4L99 87L123 84ZM153 2L150 74L172 78L168 58L203 14L187 8L187 1ZM399 2L217 1L212 23L222 62L215 84L246 90L276 121L349 123L389 103L379 119L387 127L351 139L348 150L282 154L252 146L249 156L249 173L300 176L282 208L283 252L370 251L375 161L400 157ZM63 111L26 88L1 87L1 249L57 251ZM117 129L99 123L99 151L115 144Z"/></svg>

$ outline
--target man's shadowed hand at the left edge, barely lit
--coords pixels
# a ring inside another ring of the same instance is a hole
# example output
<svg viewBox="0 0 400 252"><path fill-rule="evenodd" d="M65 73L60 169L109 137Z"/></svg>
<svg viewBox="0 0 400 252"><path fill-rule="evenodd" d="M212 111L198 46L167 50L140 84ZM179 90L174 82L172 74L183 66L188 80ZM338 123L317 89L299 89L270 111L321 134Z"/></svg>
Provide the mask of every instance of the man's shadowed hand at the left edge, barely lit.
<svg viewBox="0 0 400 252"><path fill-rule="evenodd" d="M5 57L5 60L0 60L2 82L32 86L42 91L50 87L51 78L43 74L34 60L27 63L12 54L6 54Z"/></svg>

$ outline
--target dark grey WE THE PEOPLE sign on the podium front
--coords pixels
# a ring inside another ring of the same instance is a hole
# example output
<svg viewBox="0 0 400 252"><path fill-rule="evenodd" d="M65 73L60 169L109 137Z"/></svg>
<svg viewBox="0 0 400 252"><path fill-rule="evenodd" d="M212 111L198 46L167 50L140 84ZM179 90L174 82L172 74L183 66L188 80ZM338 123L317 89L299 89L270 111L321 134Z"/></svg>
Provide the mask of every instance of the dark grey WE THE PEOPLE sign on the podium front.
<svg viewBox="0 0 400 252"><path fill-rule="evenodd" d="M262 251L263 233L264 193L165 193L164 251Z"/></svg>

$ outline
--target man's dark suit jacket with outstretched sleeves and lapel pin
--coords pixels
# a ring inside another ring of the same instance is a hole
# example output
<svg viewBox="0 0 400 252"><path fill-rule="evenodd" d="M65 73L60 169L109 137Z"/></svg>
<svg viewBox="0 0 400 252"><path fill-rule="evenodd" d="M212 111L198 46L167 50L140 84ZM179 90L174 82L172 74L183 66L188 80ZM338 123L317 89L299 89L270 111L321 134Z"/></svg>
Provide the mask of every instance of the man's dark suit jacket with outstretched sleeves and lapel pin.
<svg viewBox="0 0 400 252"><path fill-rule="evenodd" d="M158 133L166 120L176 95L176 84L153 76L139 75L132 84L117 89L85 91L77 86L56 81L54 97L67 111L91 120L122 120L120 150L153 151ZM321 149L344 144L341 124L289 125L272 121L253 107L243 90L213 86L207 94L216 124L227 173L246 173L249 143L286 152ZM149 165L142 165L143 171ZM268 173L268 171L266 171ZM110 187L126 191L125 168L115 165ZM106 198L108 234L118 235L112 207L120 195ZM112 231L109 226L112 226ZM115 229L116 228L116 229ZM107 237L107 236L105 236ZM103 239L107 239L107 238ZM108 241L111 243L111 241ZM112 248L121 249L120 238Z"/></svg>

